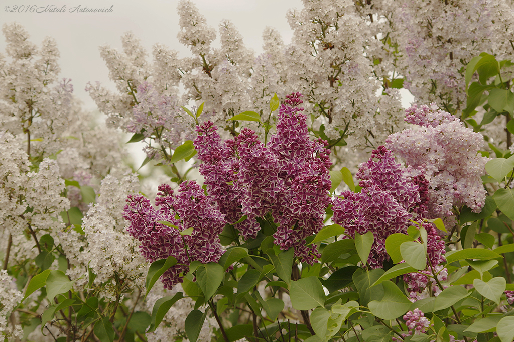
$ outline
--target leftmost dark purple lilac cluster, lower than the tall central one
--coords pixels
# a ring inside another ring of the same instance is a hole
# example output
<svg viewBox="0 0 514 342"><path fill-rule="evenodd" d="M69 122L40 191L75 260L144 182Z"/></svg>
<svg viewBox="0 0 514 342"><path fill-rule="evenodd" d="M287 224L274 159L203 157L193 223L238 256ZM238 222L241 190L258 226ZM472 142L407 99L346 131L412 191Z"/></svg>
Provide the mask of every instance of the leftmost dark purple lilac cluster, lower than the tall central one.
<svg viewBox="0 0 514 342"><path fill-rule="evenodd" d="M147 261L153 262L170 256L177 264L170 267L162 277L166 289L182 281L189 264L217 262L223 254L218 234L223 231L225 219L219 210L207 201L204 190L194 182L180 184L176 195L169 185L159 186L155 199L156 210L148 199L141 195L128 195L123 218L128 221L127 232L141 242L140 251ZM176 219L178 217L178 219ZM167 221L177 228L159 221ZM191 235L180 235L180 231L193 228Z"/></svg>

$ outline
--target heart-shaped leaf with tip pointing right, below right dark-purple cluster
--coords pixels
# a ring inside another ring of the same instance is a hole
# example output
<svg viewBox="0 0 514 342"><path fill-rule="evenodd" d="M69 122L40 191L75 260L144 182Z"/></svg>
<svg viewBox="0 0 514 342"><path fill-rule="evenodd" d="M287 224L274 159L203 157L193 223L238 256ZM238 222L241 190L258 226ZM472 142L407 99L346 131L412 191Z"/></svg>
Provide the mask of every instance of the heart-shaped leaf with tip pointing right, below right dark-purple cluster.
<svg viewBox="0 0 514 342"><path fill-rule="evenodd" d="M373 315L382 319L396 319L405 314L411 307L412 303L407 297L398 289L392 281L385 280L382 282L384 289L383 298L372 300L368 307Z"/></svg>

